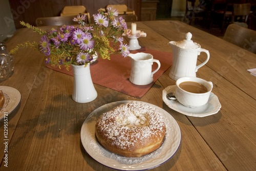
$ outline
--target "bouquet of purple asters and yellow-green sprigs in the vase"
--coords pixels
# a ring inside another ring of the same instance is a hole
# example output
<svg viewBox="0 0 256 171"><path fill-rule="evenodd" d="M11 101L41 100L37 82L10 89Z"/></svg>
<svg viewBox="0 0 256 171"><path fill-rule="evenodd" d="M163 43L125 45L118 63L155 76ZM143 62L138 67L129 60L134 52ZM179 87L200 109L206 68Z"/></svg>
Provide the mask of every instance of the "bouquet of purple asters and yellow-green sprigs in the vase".
<svg viewBox="0 0 256 171"><path fill-rule="evenodd" d="M123 34L131 34L122 17L118 17L118 11L112 7L99 9L93 15L94 24L86 22L86 15L74 17L79 26L63 25L59 30L43 31L28 23L21 25L33 29L41 36L40 42L25 42L17 45L10 51L14 54L19 48L30 47L38 50L46 56L46 63L57 66L85 65L87 66L97 55L103 59L110 59L110 54L121 53L126 57L129 46L123 44ZM111 43L112 42L112 43Z"/></svg>

